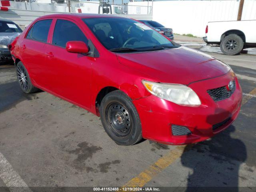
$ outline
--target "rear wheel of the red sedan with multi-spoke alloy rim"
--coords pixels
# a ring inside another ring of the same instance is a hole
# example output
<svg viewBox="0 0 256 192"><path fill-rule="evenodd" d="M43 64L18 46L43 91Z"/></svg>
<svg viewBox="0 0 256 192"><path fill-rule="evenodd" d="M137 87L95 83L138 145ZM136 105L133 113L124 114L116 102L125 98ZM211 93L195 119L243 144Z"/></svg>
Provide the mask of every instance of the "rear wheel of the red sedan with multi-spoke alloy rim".
<svg viewBox="0 0 256 192"><path fill-rule="evenodd" d="M16 74L20 88L25 93L38 92L40 89L32 85L28 71L23 63L20 61L16 66Z"/></svg>

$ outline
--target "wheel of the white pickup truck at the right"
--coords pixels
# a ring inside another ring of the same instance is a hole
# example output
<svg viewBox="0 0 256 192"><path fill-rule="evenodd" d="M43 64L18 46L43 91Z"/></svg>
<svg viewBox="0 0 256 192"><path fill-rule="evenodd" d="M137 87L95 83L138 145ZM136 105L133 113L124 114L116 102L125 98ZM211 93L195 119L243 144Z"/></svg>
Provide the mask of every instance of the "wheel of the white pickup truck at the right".
<svg viewBox="0 0 256 192"><path fill-rule="evenodd" d="M226 36L220 43L220 50L225 55L237 55L244 48L244 41L236 34Z"/></svg>

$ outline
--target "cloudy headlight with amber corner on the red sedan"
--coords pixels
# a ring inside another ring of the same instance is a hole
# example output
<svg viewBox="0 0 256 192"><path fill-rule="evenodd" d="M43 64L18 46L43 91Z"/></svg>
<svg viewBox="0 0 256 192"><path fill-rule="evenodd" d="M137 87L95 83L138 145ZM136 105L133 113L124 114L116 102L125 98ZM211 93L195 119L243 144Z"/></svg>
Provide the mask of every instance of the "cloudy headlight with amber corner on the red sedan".
<svg viewBox="0 0 256 192"><path fill-rule="evenodd" d="M197 94L181 84L155 83L142 80L142 84L153 95L179 105L200 106Z"/></svg>

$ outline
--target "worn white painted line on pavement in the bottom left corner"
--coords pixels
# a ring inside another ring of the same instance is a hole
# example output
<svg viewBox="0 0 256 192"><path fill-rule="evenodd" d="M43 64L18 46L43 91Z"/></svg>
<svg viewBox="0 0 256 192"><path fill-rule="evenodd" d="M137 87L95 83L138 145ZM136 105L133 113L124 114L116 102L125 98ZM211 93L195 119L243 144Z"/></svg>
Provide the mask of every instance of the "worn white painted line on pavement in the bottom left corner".
<svg viewBox="0 0 256 192"><path fill-rule="evenodd" d="M20 175L13 170L12 165L0 152L0 178L3 180L10 192L32 192Z"/></svg>

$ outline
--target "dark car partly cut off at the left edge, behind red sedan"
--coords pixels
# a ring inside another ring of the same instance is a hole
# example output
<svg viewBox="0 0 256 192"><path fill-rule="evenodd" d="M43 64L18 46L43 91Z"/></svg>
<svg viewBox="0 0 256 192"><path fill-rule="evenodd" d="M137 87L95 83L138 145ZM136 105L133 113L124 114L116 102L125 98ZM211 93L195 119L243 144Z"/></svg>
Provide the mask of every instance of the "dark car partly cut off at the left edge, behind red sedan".
<svg viewBox="0 0 256 192"><path fill-rule="evenodd" d="M0 62L12 61L8 45L22 32L21 28L12 22L0 18Z"/></svg>

